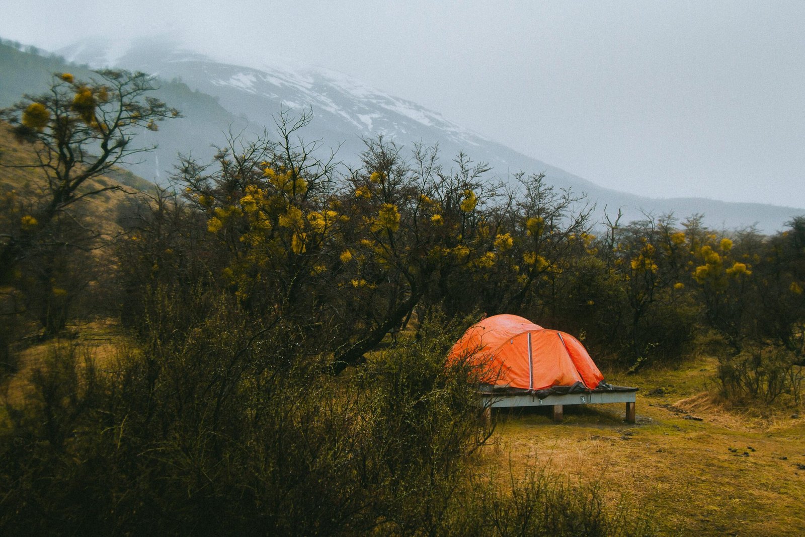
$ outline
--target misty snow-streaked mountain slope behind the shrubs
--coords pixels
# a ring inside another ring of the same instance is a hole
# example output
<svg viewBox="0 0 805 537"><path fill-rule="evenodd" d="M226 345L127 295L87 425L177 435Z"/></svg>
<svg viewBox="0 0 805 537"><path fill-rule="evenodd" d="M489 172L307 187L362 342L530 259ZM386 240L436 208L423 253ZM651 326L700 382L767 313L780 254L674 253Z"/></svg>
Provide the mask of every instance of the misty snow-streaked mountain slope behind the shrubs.
<svg viewBox="0 0 805 537"><path fill-rule="evenodd" d="M136 69L164 81L181 81L196 92L214 97L221 109L211 111L217 118L217 126L212 128L210 118L196 117L206 114L204 110L194 109L192 103L183 106L182 102L169 102L181 109L186 119L167 122L161 133L149 134L156 137L153 141L159 142L160 150L134 167L134 171L148 179L163 180L175 161L176 151L204 159L212 154L210 144L225 142L224 133L228 130L259 132L266 128L270 132L280 110L309 108L314 120L303 133L304 138L320 140L326 147L340 146L338 158L349 164L357 164L357 155L364 148L361 138L384 134L406 147L413 143L438 143L445 163L464 151L476 162L489 163L493 174L502 180L516 171L545 172L551 184L584 192L599 209L608 207L609 213L622 208L627 219L642 217L643 212L655 215L672 212L678 217L704 213L708 224L715 227L758 224L760 229L773 231L782 228L791 217L805 213L803 209L766 204L701 198L661 200L617 192L483 138L414 102L324 68L272 58L225 63L183 50L175 43L153 39L113 44L83 41L58 53L67 60L92 67ZM199 122L204 127L197 126Z"/></svg>

